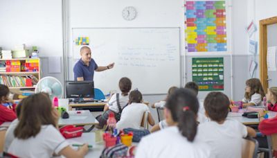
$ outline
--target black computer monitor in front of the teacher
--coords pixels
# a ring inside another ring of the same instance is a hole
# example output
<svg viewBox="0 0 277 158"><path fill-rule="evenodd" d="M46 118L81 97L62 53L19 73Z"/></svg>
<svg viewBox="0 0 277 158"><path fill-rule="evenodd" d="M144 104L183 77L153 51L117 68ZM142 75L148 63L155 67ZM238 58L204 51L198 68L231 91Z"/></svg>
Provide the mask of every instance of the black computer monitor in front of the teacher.
<svg viewBox="0 0 277 158"><path fill-rule="evenodd" d="M94 98L93 81L66 80L66 98Z"/></svg>

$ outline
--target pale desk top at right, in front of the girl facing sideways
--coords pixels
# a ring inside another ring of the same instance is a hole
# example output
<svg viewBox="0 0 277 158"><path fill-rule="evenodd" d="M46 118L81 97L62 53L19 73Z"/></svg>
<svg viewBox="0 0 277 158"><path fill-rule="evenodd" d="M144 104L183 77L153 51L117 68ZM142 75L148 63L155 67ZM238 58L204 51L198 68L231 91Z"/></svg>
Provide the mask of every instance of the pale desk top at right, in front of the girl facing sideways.
<svg viewBox="0 0 277 158"><path fill-rule="evenodd" d="M240 121L244 125L258 125L260 123L259 119L249 119L247 117L242 116L243 113L240 112L229 112L227 118L228 119L235 119L237 121ZM269 116L269 119L275 117L277 115L277 112L271 112L267 113Z"/></svg>

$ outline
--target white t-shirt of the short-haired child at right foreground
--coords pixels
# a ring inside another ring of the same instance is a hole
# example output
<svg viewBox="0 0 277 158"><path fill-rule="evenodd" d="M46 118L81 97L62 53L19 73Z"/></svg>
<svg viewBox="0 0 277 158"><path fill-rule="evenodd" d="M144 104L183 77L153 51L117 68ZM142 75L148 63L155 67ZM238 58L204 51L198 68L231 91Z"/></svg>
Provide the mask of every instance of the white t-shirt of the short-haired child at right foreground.
<svg viewBox="0 0 277 158"><path fill-rule="evenodd" d="M222 124L210 121L199 124L197 137L211 146L214 157L241 157L242 138L247 137L247 127L232 119Z"/></svg>

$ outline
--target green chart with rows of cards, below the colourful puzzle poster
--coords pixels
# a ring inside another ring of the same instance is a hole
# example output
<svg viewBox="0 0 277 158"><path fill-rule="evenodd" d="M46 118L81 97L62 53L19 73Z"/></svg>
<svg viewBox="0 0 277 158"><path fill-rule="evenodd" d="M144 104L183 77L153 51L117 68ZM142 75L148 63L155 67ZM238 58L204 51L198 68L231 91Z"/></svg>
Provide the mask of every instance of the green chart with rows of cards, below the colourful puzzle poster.
<svg viewBox="0 0 277 158"><path fill-rule="evenodd" d="M199 85L199 91L224 90L223 58L193 58L193 81Z"/></svg>

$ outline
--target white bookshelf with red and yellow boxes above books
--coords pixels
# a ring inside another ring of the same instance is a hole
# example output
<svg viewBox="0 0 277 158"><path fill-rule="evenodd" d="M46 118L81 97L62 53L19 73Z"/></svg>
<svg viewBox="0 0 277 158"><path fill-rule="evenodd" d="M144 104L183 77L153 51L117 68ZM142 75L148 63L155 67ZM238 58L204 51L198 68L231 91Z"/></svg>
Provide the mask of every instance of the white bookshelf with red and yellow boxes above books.
<svg viewBox="0 0 277 158"><path fill-rule="evenodd" d="M39 58L0 59L0 83L14 94L21 94L21 90L34 91L40 72Z"/></svg>

